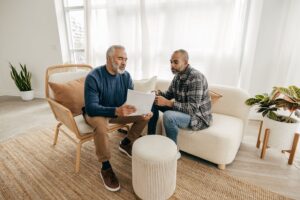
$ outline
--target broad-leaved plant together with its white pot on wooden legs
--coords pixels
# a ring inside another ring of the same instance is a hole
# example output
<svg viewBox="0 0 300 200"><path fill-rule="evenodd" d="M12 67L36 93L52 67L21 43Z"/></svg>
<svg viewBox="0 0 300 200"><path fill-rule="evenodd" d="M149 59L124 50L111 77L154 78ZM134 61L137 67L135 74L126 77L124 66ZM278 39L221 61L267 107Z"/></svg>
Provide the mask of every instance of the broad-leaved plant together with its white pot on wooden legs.
<svg viewBox="0 0 300 200"><path fill-rule="evenodd" d="M299 128L299 121L295 117L300 117L300 88L274 87L270 94L255 95L245 103L249 106L256 105L257 112L264 117L262 130L270 131L264 146L291 149L294 134Z"/></svg>

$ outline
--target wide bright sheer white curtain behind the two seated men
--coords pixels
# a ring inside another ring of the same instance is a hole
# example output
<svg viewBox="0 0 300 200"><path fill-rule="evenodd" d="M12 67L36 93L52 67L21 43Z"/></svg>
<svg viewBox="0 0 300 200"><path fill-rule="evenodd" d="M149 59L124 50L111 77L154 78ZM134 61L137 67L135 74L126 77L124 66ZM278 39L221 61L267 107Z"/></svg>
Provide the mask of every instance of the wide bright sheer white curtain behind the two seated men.
<svg viewBox="0 0 300 200"><path fill-rule="evenodd" d="M246 0L87 0L88 62L122 44L135 79L172 78L169 59L186 49L210 83L237 85L244 47Z"/></svg>

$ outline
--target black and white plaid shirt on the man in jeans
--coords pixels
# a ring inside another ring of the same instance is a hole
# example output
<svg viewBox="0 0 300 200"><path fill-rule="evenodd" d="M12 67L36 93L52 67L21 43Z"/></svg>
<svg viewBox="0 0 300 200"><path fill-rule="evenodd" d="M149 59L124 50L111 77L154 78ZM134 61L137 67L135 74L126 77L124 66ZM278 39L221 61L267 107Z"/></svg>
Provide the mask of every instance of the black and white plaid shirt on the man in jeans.
<svg viewBox="0 0 300 200"><path fill-rule="evenodd" d="M205 76L188 66L183 74L177 74L166 92L167 99L175 99L173 110L189 114L193 130L209 127L212 121L211 101Z"/></svg>

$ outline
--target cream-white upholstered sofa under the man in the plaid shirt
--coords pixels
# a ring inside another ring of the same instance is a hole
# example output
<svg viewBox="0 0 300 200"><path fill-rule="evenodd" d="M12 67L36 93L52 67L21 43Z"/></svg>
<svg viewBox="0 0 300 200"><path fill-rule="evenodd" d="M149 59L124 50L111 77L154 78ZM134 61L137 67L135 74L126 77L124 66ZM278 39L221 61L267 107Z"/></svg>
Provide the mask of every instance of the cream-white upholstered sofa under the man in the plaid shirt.
<svg viewBox="0 0 300 200"><path fill-rule="evenodd" d="M169 84L169 81L157 80L156 89L165 91ZM243 138L249 113L249 106L244 102L249 96L233 87L210 85L209 89L222 95L212 106L212 125L200 131L180 129L177 141L181 151L225 169L234 160ZM165 134L163 127L162 134Z"/></svg>

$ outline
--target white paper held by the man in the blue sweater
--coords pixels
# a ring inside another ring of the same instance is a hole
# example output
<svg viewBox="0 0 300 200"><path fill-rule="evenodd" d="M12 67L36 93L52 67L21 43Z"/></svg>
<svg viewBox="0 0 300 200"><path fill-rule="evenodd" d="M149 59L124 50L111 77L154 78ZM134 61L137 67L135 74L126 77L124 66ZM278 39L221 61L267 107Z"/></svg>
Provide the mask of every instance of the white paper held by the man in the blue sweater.
<svg viewBox="0 0 300 200"><path fill-rule="evenodd" d="M154 99L154 93L128 90L126 104L132 105L136 108L136 112L130 114L130 116L145 115L150 113Z"/></svg>

